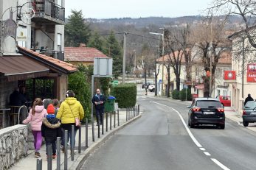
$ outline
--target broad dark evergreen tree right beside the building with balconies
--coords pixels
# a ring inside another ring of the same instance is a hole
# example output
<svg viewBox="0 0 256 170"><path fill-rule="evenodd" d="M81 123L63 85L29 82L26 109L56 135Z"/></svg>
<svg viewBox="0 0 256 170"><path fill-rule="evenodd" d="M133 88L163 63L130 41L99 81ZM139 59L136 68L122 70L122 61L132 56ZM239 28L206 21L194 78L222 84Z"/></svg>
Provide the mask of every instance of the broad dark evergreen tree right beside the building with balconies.
<svg viewBox="0 0 256 170"><path fill-rule="evenodd" d="M80 43L88 43L91 35L89 24L83 18L82 10L72 10L69 22L65 26L65 46L80 46Z"/></svg>

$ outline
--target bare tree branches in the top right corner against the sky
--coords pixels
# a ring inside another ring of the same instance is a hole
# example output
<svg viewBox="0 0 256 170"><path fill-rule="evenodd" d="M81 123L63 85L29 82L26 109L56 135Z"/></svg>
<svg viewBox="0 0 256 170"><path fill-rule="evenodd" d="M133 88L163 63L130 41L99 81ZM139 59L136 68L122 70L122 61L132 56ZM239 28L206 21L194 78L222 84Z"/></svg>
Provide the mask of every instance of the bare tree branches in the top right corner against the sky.
<svg viewBox="0 0 256 170"><path fill-rule="evenodd" d="M218 15L240 15L243 20L242 29L244 29L246 38L248 38L251 46L256 48L256 41L252 32L255 25L256 16L256 0L214 0L210 13L218 13Z"/></svg>

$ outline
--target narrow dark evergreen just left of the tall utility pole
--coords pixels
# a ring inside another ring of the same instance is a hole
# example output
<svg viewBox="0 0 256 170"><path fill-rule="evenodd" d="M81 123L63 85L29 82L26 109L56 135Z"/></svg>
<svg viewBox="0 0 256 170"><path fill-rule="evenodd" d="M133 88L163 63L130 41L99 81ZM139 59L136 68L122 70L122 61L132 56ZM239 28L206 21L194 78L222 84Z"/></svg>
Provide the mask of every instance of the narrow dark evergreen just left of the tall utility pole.
<svg viewBox="0 0 256 170"><path fill-rule="evenodd" d="M108 36L104 52L108 57L113 58L113 75L117 79L122 73L122 52L113 31Z"/></svg>

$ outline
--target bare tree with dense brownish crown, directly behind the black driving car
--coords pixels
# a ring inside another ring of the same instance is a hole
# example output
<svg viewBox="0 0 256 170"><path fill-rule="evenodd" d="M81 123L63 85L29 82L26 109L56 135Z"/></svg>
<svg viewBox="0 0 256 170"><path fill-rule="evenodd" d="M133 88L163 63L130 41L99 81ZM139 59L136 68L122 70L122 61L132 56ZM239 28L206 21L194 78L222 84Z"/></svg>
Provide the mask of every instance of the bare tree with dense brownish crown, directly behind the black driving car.
<svg viewBox="0 0 256 170"><path fill-rule="evenodd" d="M196 40L196 46L204 65L204 71L211 71L211 57L212 57L212 81L210 77L203 76L204 80L204 96L210 96L210 83L213 84L213 77L215 77L215 69L218 65L218 60L223 52L230 52L230 41L226 39L225 35L225 21L219 21L216 18L210 18L208 21L203 21L193 29L193 37Z"/></svg>

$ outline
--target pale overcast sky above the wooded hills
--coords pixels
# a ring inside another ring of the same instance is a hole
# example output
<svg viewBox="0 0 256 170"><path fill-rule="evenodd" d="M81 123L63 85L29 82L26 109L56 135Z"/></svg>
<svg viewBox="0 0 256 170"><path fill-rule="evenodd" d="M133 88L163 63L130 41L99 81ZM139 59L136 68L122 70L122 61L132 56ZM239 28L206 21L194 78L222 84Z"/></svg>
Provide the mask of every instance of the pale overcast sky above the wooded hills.
<svg viewBox="0 0 256 170"><path fill-rule="evenodd" d="M66 0L66 17L83 10L85 18L139 18L200 15L212 0Z"/></svg>

